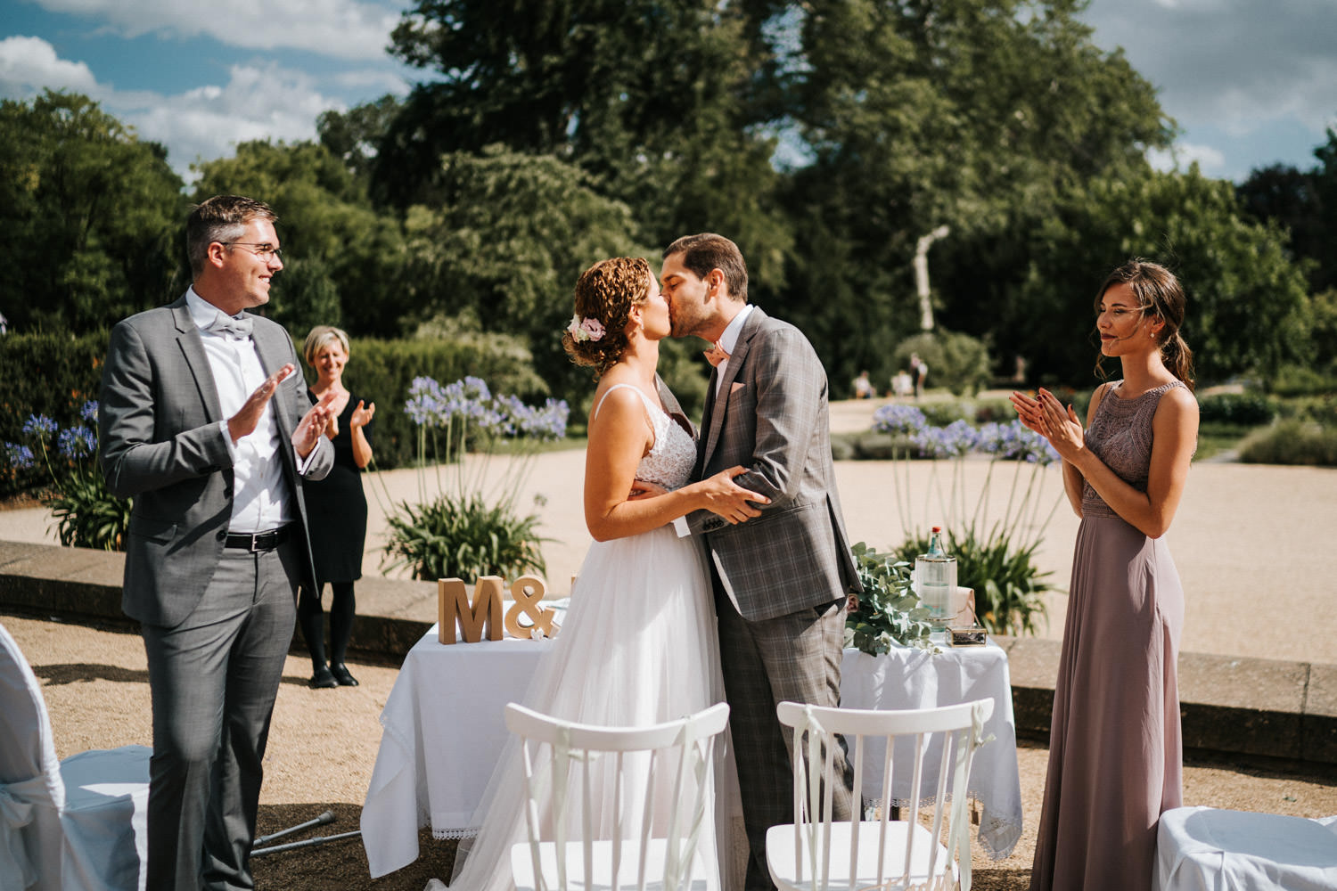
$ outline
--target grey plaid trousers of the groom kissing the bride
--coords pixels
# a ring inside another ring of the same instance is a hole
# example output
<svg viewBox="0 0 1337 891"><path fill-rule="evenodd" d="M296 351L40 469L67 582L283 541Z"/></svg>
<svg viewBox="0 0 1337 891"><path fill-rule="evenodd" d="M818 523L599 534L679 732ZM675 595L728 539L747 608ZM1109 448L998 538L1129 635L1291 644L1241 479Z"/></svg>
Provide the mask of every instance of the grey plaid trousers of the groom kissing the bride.
<svg viewBox="0 0 1337 891"><path fill-rule="evenodd" d="M840 705L841 641L845 601L809 606L794 613L747 621L738 614L718 577L715 613L719 617L719 660L729 697L729 724L737 748L738 787L747 828L747 891L774 888L766 867L766 830L794 822L793 733L779 724L775 705L789 700L813 705ZM845 759L844 740L836 752L832 810L848 820L853 807L854 775Z"/></svg>

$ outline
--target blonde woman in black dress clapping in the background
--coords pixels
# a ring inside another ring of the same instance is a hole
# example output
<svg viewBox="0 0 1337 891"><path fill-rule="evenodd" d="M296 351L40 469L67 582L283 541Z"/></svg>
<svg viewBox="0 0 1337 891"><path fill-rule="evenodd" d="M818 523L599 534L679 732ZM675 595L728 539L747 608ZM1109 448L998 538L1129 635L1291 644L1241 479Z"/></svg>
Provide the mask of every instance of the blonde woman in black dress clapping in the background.
<svg viewBox="0 0 1337 891"><path fill-rule="evenodd" d="M316 590L302 586L297 598L297 624L312 655L312 687L357 687L344 664L357 601L353 582L362 577L366 544L366 496L362 470L372 460L370 423L376 403L354 398L344 386L348 365L348 334L321 325L312 329L302 346L306 363L316 370L310 387L314 398L334 394L325 435L334 443L334 468L318 482L305 485L312 553L316 558ZM325 661L325 614L321 592L329 582L330 651Z"/></svg>

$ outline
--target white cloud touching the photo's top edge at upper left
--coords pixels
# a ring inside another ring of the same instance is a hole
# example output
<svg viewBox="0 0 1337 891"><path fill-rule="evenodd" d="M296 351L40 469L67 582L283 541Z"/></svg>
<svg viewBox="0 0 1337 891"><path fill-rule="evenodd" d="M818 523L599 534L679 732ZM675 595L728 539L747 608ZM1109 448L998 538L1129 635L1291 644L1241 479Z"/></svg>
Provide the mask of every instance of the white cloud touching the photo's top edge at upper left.
<svg viewBox="0 0 1337 891"><path fill-rule="evenodd" d="M13 0L9 0L13 1ZM384 59L400 13L364 0L35 0L95 17L127 37L206 35L247 49L308 49L340 59Z"/></svg>

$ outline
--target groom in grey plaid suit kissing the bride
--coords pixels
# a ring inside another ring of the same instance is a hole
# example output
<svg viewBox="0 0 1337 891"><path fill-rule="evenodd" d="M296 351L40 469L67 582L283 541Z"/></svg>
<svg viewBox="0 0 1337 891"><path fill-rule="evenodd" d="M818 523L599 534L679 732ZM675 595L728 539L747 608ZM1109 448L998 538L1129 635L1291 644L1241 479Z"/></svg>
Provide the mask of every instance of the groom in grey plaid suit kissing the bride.
<svg viewBox="0 0 1337 891"><path fill-rule="evenodd" d="M678 529L705 536L710 553L751 848L747 888L773 888L766 830L794 819L790 740L775 704L840 704L845 605L862 590L836 492L826 371L798 329L747 303L747 264L727 238L679 238L664 250L660 279L673 335L714 345L695 478L742 465L734 482L770 498L747 522L698 512ZM836 757L844 761L844 751ZM849 819L853 800L844 768L838 819Z"/></svg>

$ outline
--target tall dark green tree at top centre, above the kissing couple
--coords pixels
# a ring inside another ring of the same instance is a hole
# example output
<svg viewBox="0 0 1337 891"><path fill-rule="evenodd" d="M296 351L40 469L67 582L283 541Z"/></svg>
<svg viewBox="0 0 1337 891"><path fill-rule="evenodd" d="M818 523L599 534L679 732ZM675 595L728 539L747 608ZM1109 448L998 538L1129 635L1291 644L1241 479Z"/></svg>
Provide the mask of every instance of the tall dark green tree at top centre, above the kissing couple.
<svg viewBox="0 0 1337 891"><path fill-rule="evenodd" d="M746 4L743 4L745 7ZM751 99L765 45L743 7L715 0L418 0L393 52L435 69L376 159L377 194L408 206L444 152L501 144L552 155L631 207L651 246L733 236L761 290L790 246L774 200L774 140Z"/></svg>

